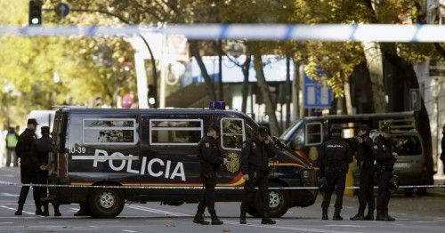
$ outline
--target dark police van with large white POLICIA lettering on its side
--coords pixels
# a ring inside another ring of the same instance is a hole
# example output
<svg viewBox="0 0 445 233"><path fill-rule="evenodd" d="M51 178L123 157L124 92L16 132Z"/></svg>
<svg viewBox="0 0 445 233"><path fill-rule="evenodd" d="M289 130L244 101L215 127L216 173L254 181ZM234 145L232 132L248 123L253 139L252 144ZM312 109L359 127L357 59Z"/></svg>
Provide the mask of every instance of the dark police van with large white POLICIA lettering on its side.
<svg viewBox="0 0 445 233"><path fill-rule="evenodd" d="M216 200L239 202L245 182L239 171L242 142L254 135L258 125L239 111L224 109L57 110L49 181L69 186L50 189L50 197L61 204L86 206L98 218L117 216L125 201L196 203L201 197L196 188L202 187L197 145L213 123L221 127L220 149L229 160L218 173L217 186L224 188L216 192ZM278 148L270 161L270 186L316 186L312 164ZM316 196L315 189L271 189L271 216L312 205ZM248 213L259 217L261 202L256 199Z"/></svg>

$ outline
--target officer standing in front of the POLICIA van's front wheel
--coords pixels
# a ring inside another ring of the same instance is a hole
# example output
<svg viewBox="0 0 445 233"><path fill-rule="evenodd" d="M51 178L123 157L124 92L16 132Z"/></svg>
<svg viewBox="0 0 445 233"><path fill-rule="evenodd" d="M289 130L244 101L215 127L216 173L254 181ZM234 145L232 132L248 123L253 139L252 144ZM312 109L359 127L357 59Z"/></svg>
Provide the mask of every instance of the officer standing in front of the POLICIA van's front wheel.
<svg viewBox="0 0 445 233"><path fill-rule="evenodd" d="M258 187L263 202L262 224L275 224L271 220L269 213L269 158L275 156L275 147L271 142L271 137L267 133L267 128L258 127L255 136L247 139L241 150L241 172L246 181L244 185L244 199L241 204L241 214L239 223L246 224L246 213L251 205L255 194L255 187Z"/></svg>

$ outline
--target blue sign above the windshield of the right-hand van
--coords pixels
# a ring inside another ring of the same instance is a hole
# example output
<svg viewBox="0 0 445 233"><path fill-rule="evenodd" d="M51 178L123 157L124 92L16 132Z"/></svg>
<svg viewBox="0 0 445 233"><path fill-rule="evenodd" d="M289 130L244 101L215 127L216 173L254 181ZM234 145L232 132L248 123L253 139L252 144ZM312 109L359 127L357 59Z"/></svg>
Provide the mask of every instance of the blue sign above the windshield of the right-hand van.
<svg viewBox="0 0 445 233"><path fill-rule="evenodd" d="M332 89L309 78L306 73L303 79L304 108L331 108L334 100Z"/></svg>

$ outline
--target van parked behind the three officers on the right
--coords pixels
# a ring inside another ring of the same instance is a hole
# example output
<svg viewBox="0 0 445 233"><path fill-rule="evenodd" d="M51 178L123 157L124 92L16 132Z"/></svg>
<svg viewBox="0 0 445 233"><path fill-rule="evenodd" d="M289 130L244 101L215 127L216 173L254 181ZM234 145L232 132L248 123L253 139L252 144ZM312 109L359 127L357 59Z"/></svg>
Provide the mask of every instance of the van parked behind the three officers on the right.
<svg viewBox="0 0 445 233"><path fill-rule="evenodd" d="M400 155L394 165L394 173L401 179L401 185L433 184L433 155L426 153L425 144L417 132L417 116L414 112L396 112L380 114L308 116L292 125L280 136L289 149L300 157L306 157L316 164L321 143L328 140L332 125L341 126L343 137L356 148L354 137L360 125L368 125L370 129L379 129L383 124L391 124L395 150ZM372 131L372 139L378 135ZM354 185L358 186L358 169L354 172ZM424 194L426 189L417 189ZM405 189L412 194L413 189Z"/></svg>

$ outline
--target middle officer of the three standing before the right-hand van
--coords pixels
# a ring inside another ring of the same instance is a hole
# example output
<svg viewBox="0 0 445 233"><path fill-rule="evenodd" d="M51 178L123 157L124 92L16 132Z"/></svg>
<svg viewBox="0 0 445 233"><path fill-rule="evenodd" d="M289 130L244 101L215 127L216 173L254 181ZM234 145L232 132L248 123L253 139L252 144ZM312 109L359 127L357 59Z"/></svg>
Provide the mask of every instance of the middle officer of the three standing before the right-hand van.
<svg viewBox="0 0 445 233"><path fill-rule="evenodd" d="M361 125L358 133L357 141L357 161L360 168L360 189L359 189L359 213L350 218L352 221L357 220L374 220L374 158L373 141L369 137L368 125ZM366 217L365 209L368 204L368 214Z"/></svg>

